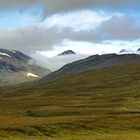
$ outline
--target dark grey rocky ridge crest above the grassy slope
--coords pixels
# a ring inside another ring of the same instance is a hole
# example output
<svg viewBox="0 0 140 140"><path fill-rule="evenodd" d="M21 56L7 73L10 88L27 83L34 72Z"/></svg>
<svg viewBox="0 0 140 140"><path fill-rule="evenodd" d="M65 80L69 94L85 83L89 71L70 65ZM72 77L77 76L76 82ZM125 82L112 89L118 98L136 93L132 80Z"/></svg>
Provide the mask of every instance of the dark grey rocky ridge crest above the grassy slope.
<svg viewBox="0 0 140 140"><path fill-rule="evenodd" d="M50 73L44 79L53 80L60 76L81 73L89 70L101 69L115 65L140 62L140 55L137 54L105 54L93 55L73 63L69 63L61 69Z"/></svg>

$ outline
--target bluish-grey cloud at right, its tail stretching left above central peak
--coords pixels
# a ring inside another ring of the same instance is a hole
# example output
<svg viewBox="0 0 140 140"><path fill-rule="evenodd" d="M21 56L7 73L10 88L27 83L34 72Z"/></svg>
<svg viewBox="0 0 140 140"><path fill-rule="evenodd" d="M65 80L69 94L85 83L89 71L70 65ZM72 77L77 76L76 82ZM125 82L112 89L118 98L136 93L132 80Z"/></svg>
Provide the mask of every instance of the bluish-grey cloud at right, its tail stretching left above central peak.
<svg viewBox="0 0 140 140"><path fill-rule="evenodd" d="M63 29L62 38L75 41L102 43L105 40L133 41L140 39L140 21L131 16L113 16L103 21L95 30L73 32Z"/></svg>

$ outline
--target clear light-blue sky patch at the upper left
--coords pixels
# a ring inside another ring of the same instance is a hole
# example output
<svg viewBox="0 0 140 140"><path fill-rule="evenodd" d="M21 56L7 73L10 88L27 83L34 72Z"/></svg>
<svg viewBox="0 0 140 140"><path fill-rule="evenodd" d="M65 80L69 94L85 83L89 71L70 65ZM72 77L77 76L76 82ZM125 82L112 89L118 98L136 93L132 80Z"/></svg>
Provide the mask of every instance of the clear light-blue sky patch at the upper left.
<svg viewBox="0 0 140 140"><path fill-rule="evenodd" d="M0 28L30 26L42 20L43 7L14 8L0 10Z"/></svg>

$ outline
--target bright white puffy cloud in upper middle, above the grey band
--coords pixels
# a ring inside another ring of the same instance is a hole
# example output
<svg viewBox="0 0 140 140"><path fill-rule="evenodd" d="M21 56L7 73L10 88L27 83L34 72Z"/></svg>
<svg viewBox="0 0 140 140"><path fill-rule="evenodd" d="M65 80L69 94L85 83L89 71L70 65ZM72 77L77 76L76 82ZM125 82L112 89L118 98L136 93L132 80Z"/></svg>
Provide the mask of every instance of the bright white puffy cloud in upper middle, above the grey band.
<svg viewBox="0 0 140 140"><path fill-rule="evenodd" d="M118 15L118 14L114 14ZM68 12L65 14L55 14L47 18L42 26L57 27L59 29L70 27L74 31L92 30L106 20L109 20L112 15L104 13L103 11L95 12L91 10L82 10L75 12Z"/></svg>

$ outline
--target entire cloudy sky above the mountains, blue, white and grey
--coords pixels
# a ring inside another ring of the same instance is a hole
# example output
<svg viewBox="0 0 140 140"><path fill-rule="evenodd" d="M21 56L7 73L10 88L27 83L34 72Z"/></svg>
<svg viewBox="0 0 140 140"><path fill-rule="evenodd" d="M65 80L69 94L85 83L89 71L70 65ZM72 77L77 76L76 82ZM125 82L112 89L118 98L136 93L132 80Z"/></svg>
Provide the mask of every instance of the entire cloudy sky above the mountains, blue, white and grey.
<svg viewBox="0 0 140 140"><path fill-rule="evenodd" d="M94 54L140 48L140 0L0 0L0 47L56 70ZM58 57L71 49L74 56Z"/></svg>

